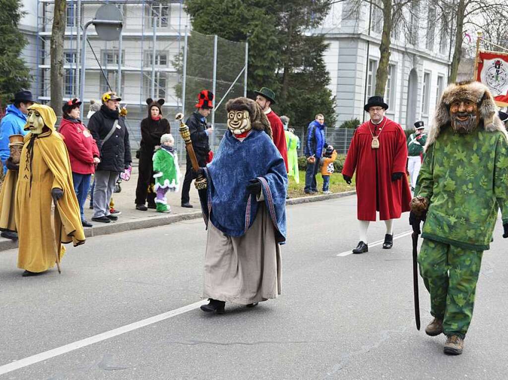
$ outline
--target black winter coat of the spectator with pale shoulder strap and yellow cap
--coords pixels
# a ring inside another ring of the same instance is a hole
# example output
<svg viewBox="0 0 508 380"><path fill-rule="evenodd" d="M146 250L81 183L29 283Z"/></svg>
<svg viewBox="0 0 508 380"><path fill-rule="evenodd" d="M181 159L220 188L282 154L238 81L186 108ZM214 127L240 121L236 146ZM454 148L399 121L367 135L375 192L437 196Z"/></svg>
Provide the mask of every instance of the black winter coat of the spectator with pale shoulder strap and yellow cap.
<svg viewBox="0 0 508 380"><path fill-rule="evenodd" d="M116 119L118 125L115 131L103 144ZM121 172L132 162L129 131L125 127L124 120L119 116L118 110L111 111L106 105L102 105L101 110L94 113L88 121L88 129L101 152L101 163L97 166L97 170Z"/></svg>

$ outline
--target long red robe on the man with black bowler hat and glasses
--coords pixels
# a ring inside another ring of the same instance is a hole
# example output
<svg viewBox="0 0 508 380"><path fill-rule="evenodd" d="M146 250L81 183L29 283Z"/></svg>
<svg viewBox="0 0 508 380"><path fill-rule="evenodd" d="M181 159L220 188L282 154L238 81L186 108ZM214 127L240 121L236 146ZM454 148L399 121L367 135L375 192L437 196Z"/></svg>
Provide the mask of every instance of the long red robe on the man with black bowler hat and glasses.
<svg viewBox="0 0 508 380"><path fill-rule="evenodd" d="M379 149L372 149L371 131L375 129L377 135L385 120L385 127L379 134ZM406 137L399 124L385 116L378 125L369 120L358 127L342 174L353 177L356 169L359 220L375 221L376 211L379 211L380 220L397 219L402 212L409 211L411 192L405 175L406 160ZM397 172L404 174L402 180L392 181L392 174Z"/></svg>

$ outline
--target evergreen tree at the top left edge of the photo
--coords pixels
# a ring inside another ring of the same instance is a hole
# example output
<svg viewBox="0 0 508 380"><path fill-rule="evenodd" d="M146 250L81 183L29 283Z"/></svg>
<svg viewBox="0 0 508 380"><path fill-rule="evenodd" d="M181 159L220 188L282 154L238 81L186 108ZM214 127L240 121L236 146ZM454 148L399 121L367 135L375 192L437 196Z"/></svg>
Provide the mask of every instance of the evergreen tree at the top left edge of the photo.
<svg viewBox="0 0 508 380"><path fill-rule="evenodd" d="M30 70L20 58L27 41L18 29L21 0L0 0L0 101L4 107L14 93L30 86Z"/></svg>

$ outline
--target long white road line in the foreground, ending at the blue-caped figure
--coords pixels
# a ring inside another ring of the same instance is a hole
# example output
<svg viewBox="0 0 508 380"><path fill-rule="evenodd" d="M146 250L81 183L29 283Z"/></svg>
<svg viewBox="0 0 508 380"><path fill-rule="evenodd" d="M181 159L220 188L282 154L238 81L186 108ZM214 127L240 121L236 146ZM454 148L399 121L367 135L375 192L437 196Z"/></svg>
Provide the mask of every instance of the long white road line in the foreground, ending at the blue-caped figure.
<svg viewBox="0 0 508 380"><path fill-rule="evenodd" d="M0 366L0 375L8 372L15 371L17 369L27 367L31 364L35 364L38 362L42 362L43 360L47 360L50 358L54 358L55 356L66 354L68 352L90 346L90 344L98 343L100 341L112 338L114 336L118 336L121 334L124 334L126 332L130 332L133 330L137 330L141 327L145 327L148 325L152 325L157 322L164 321L165 319L176 317L180 314L190 312L190 310L197 309L201 305L207 303L208 300L201 300L198 302L191 303L190 305L182 306L177 309L171 310L170 312L162 313L153 317L149 317L146 319L143 319L138 322L131 323L129 325L125 325L122 327L118 327L116 329L106 331L97 335L90 336L85 339L81 339L69 344L66 344L65 346L58 347L53 350L49 350L46 352L42 352L40 354L32 355L24 359L16 360L9 364L4 364L3 366Z"/></svg>

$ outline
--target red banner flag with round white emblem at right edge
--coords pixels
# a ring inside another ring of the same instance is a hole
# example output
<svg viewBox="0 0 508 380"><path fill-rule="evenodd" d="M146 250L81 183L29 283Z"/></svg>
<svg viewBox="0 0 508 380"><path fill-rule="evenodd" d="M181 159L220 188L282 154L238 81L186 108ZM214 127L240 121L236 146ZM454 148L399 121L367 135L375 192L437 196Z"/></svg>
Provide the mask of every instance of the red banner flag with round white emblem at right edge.
<svg viewBox="0 0 508 380"><path fill-rule="evenodd" d="M508 53L480 51L476 80L490 89L499 107L508 107Z"/></svg>

